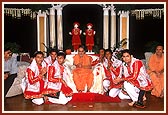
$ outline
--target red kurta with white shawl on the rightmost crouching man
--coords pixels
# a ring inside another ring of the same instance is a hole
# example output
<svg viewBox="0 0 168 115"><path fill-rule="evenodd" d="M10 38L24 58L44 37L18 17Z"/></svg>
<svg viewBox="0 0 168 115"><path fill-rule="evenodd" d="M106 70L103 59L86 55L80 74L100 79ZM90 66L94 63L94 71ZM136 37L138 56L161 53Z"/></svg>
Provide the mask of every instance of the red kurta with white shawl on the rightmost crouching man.
<svg viewBox="0 0 168 115"><path fill-rule="evenodd" d="M142 90L151 90L152 83L142 61L133 58L131 65L123 64L125 80Z"/></svg>

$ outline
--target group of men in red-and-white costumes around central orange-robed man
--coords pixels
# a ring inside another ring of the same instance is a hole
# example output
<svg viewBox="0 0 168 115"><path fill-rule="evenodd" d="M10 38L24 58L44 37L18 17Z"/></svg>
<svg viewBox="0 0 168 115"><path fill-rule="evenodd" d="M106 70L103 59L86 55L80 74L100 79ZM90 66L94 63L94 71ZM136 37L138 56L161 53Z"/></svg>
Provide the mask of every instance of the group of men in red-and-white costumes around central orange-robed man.
<svg viewBox="0 0 168 115"><path fill-rule="evenodd" d="M52 49L48 57L36 51L24 79L25 99L37 105L45 101L66 104L73 93L93 92L120 99L131 99L130 106L144 108L145 91L152 83L142 61L128 49L122 51L122 61L113 56L111 49L100 49L96 60L78 48L73 57L73 68L65 63L66 54Z"/></svg>

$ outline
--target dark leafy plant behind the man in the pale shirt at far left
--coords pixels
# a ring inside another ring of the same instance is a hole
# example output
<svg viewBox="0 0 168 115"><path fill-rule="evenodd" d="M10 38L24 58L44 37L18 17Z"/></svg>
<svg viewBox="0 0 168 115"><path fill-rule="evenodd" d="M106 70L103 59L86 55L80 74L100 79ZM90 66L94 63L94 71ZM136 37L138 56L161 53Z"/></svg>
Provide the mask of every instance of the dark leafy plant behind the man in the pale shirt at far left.
<svg viewBox="0 0 168 115"><path fill-rule="evenodd" d="M7 42L5 43L4 48L10 48L13 53L20 53L21 46L16 42Z"/></svg>

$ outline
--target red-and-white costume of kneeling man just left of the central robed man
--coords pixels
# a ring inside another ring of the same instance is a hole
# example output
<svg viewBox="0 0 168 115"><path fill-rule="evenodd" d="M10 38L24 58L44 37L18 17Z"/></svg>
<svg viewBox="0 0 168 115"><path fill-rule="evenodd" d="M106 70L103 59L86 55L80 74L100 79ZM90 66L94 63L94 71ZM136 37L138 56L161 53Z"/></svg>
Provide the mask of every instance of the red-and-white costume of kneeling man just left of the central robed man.
<svg viewBox="0 0 168 115"><path fill-rule="evenodd" d="M47 86L45 94L55 94L60 92L59 99L48 97L49 101L57 104L66 104L72 99L72 89L63 80L64 66L59 65L57 60L48 65Z"/></svg>

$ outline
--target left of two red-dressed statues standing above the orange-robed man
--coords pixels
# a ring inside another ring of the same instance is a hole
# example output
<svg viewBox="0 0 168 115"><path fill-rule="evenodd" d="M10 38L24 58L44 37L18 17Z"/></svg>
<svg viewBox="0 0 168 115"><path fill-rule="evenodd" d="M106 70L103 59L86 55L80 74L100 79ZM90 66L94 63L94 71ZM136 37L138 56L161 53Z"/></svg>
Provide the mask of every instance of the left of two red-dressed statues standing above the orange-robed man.
<svg viewBox="0 0 168 115"><path fill-rule="evenodd" d="M73 25L74 25L74 28L72 29L72 32L69 32L69 34L72 35L73 49L74 51L77 51L79 48L79 45L81 45L80 35L82 33L82 30L78 28L80 25L78 22L74 22Z"/></svg>

